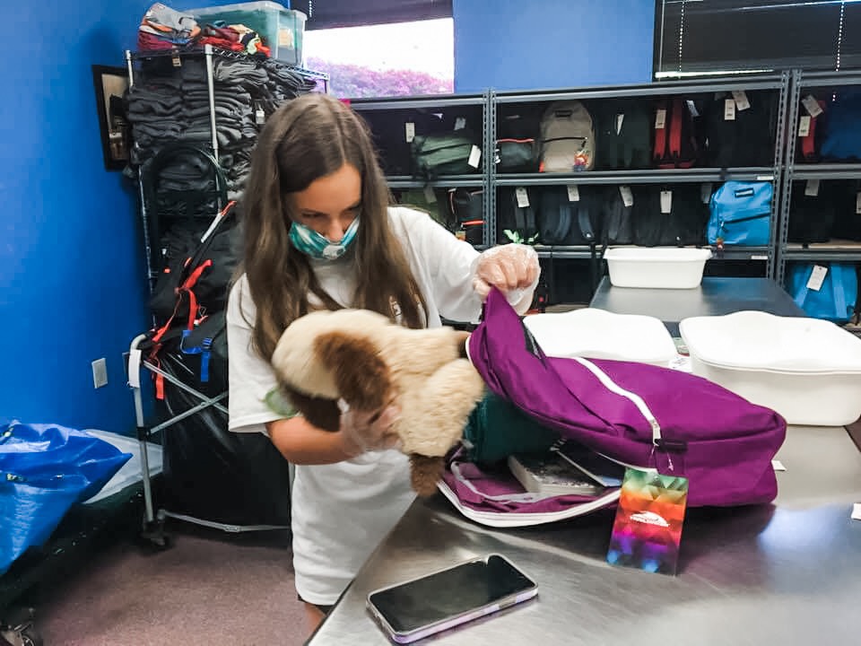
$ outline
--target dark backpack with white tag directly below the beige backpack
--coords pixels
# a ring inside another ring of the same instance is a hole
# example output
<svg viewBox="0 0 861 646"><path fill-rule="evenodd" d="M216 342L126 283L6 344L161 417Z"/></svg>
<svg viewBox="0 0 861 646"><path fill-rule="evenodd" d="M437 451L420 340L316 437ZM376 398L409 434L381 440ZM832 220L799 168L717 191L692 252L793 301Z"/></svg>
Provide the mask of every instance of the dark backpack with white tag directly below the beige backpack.
<svg viewBox="0 0 861 646"><path fill-rule="evenodd" d="M539 191L537 224L542 244L590 245L601 240L602 200L596 188L555 186Z"/></svg>

